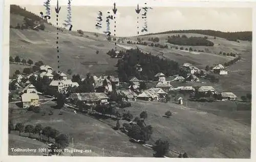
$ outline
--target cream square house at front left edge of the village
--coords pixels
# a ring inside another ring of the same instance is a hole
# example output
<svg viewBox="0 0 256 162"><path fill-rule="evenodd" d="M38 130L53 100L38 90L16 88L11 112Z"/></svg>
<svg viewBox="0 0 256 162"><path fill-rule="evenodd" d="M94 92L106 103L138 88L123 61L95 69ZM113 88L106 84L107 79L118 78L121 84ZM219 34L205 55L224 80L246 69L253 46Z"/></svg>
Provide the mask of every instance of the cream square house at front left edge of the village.
<svg viewBox="0 0 256 162"><path fill-rule="evenodd" d="M38 106L39 96L36 93L22 94L23 108L29 108L31 105Z"/></svg>

